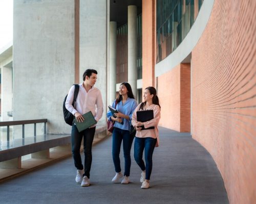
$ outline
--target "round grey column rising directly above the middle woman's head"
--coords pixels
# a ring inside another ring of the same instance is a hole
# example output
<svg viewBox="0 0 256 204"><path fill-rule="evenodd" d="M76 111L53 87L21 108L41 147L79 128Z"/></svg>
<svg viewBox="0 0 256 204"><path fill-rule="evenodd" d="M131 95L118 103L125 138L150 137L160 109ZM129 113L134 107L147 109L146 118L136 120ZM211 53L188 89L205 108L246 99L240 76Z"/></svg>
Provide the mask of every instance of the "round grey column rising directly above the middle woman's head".
<svg viewBox="0 0 256 204"><path fill-rule="evenodd" d="M137 96L137 7L128 6L128 82Z"/></svg>

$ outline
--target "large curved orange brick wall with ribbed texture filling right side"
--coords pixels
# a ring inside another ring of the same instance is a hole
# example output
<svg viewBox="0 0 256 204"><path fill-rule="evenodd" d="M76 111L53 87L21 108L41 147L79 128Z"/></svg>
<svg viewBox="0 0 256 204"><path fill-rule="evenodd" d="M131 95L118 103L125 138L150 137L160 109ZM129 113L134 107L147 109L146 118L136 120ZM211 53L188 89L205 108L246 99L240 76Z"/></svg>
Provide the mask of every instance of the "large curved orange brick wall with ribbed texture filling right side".
<svg viewBox="0 0 256 204"><path fill-rule="evenodd" d="M215 0L192 52L192 130L230 203L256 203L256 1Z"/></svg>

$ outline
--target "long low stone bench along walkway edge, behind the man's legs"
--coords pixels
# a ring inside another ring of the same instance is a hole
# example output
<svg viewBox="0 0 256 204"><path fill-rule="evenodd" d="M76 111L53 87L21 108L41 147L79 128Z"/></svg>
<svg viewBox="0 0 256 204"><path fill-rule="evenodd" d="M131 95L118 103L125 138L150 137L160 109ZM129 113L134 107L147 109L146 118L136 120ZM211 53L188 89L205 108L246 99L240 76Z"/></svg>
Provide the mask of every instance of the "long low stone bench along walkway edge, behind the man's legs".
<svg viewBox="0 0 256 204"><path fill-rule="evenodd" d="M106 133L106 126L97 126L94 143L104 138ZM22 156L29 154L31 159L51 159L53 150L65 151L66 155L71 155L71 135L45 134L2 142L0 143L0 168L23 168ZM62 157L63 154L60 156Z"/></svg>

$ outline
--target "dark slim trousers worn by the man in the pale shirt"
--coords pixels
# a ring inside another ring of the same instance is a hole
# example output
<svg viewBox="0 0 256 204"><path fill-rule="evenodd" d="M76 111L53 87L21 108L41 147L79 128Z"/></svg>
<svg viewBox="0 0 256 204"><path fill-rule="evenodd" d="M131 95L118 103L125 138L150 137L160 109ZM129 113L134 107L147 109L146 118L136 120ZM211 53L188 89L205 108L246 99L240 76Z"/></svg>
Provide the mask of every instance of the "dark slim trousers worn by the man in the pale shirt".
<svg viewBox="0 0 256 204"><path fill-rule="evenodd" d="M84 174L90 179L90 170L92 165L92 145L96 127L88 128L82 132L78 132L76 125L72 125L71 131L71 145L72 154L75 167L79 170L83 169L80 148L83 138L83 152L84 152Z"/></svg>

